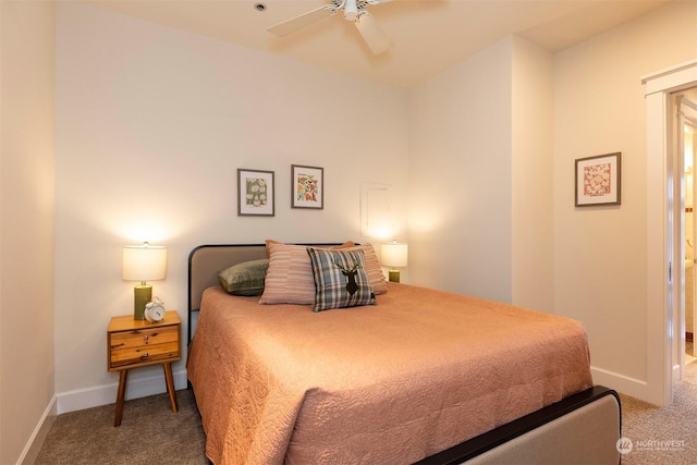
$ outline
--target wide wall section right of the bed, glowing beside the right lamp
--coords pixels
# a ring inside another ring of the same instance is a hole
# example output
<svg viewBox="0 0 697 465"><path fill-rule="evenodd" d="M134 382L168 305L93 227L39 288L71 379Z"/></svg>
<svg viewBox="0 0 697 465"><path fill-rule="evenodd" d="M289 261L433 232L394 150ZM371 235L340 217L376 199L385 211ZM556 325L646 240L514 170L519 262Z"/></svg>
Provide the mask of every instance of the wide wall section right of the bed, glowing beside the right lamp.
<svg viewBox="0 0 697 465"><path fill-rule="evenodd" d="M511 40L409 90L409 282L511 302Z"/></svg>

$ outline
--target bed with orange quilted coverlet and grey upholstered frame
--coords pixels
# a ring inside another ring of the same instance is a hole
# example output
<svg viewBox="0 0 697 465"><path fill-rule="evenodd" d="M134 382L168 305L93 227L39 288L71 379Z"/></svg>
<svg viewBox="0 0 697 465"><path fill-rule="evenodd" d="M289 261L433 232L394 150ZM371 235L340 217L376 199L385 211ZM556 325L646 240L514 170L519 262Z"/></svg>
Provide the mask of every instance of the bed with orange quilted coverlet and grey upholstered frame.
<svg viewBox="0 0 697 465"><path fill-rule="evenodd" d="M369 244L310 248L362 249L374 284ZM269 253L189 255L187 376L213 464L620 462L620 399L592 386L577 321L389 282L322 311L223 289L221 270Z"/></svg>

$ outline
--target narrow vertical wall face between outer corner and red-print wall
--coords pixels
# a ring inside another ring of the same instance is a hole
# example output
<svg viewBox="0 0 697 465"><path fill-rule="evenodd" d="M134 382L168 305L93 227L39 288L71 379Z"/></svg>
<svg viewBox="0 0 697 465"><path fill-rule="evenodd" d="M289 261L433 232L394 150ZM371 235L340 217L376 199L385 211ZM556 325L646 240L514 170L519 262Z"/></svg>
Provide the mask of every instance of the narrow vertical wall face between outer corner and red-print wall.
<svg viewBox="0 0 697 465"><path fill-rule="evenodd" d="M512 41L512 303L554 313L553 62Z"/></svg>

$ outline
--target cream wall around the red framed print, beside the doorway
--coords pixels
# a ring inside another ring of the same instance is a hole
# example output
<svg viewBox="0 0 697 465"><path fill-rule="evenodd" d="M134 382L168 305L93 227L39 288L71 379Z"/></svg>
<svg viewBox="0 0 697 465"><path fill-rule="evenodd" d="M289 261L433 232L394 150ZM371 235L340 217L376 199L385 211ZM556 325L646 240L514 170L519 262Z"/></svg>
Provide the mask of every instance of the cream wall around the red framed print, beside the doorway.
<svg viewBox="0 0 697 465"><path fill-rule="evenodd" d="M554 57L555 309L584 321L596 382L641 396L647 353L646 102L640 77L697 57L674 2ZM622 152L622 205L574 208L574 160ZM660 309L659 309L660 310Z"/></svg>

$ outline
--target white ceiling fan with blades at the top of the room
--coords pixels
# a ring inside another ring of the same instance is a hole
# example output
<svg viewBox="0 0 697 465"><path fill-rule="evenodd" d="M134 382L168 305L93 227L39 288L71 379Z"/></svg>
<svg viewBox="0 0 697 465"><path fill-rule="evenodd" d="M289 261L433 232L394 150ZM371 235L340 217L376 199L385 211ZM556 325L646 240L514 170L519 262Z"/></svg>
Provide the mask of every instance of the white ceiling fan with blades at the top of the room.
<svg viewBox="0 0 697 465"><path fill-rule="evenodd" d="M379 54L389 50L392 44L382 33L376 20L368 13L366 7L387 1L389 0L331 0L329 4L283 21L269 27L268 30L279 37L283 37L319 20L334 15L339 10L343 10L344 20L352 21L372 53Z"/></svg>

